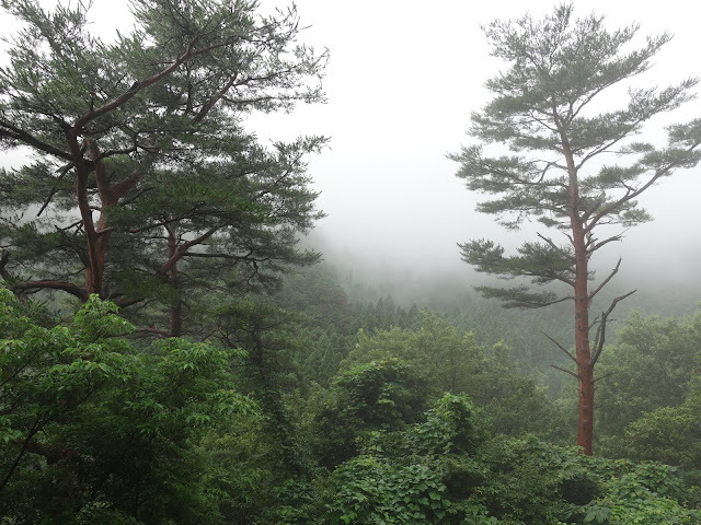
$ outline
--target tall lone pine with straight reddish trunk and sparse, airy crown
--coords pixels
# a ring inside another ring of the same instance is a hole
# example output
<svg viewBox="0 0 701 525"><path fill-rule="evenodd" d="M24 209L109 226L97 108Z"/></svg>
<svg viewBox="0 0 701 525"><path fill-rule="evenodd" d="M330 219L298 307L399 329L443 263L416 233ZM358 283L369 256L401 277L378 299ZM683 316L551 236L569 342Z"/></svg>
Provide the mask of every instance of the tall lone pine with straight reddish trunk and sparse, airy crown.
<svg viewBox="0 0 701 525"><path fill-rule="evenodd" d="M577 444L585 454L591 454L594 369L607 320L617 303L633 293L590 315L594 299L621 262L596 279L590 259L620 241L621 229L651 219L636 202L641 194L701 158L701 120L669 126L663 147L633 140L652 117L691 100L697 79L666 89L629 86L620 108L597 113L601 95L647 71L670 39L662 34L634 48L637 28L608 31L604 16L596 14L575 19L572 4L555 8L542 20L526 14L485 26L491 54L509 66L487 81L494 97L472 115L470 135L479 143L450 155L460 163L457 176L467 187L489 196L479 211L496 215L507 229L532 219L562 235L538 233L538 240L524 243L516 255L505 254L492 240L472 240L460 247L463 260L478 271L524 281L510 288L479 287L505 306L573 301L575 352L554 342L575 363L576 371L566 372L578 382ZM487 153L484 144L496 147ZM533 291L531 284L550 287Z"/></svg>

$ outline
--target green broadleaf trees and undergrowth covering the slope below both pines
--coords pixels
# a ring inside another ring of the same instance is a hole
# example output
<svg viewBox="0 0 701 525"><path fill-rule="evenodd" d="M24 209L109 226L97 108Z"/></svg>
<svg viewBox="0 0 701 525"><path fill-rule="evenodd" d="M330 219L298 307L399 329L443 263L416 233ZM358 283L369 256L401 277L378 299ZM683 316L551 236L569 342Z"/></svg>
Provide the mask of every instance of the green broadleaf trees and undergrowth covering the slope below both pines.
<svg viewBox="0 0 701 525"><path fill-rule="evenodd" d="M479 308L350 304L323 266L203 342L145 338L96 296L60 324L2 301L4 523L699 520L699 313L622 323L589 458L575 385L519 325L478 342Z"/></svg>

